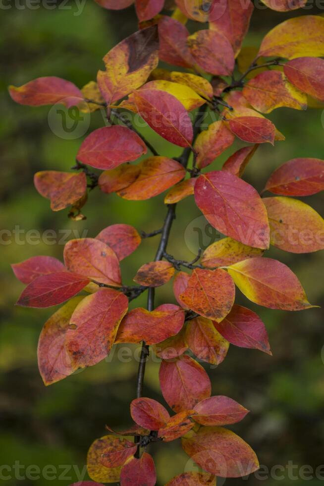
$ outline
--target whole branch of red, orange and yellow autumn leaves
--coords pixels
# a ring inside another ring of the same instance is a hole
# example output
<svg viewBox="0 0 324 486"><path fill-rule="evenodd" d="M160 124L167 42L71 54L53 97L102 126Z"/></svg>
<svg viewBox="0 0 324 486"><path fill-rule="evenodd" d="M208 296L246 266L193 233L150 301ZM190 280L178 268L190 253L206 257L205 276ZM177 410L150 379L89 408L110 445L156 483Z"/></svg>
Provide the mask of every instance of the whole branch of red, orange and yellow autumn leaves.
<svg viewBox="0 0 324 486"><path fill-rule="evenodd" d="M112 9L133 3L97 1ZM305 4L305 0L263 1L278 11ZM39 256L12 265L16 277L27 284L18 305L49 307L65 302L40 335L38 361L46 385L104 360L118 343L142 342L137 393L130 404L134 425L121 432L107 427L108 435L95 440L88 453L91 479L121 486L155 485L154 461L145 449L156 441L178 438L205 472L181 474L168 486L212 486L216 476L237 478L258 469L250 446L224 428L241 421L248 410L231 398L211 396L207 372L186 352L190 349L211 364L224 360L230 344L271 355L260 317L234 304L235 285L247 299L271 309L310 308L294 273L263 253L270 244L294 253L324 248L324 220L309 205L289 197L324 189L323 160L297 158L281 165L265 187L275 196L262 198L242 179L260 144L284 139L263 114L279 107L323 106L324 18L290 18L264 37L258 51L241 49L252 3L175 3L173 7L168 3L170 11L166 5L163 10L163 0L135 0L139 30L108 52L97 82L80 90L69 81L43 77L9 88L12 99L23 105L63 103L82 111L106 110L108 126L94 130L82 142L73 167L77 172L35 175L35 187L51 200L52 210L71 206L69 216L82 219L87 192L97 186L131 201L168 190L163 227L151 234L122 223L112 225L96 238L69 241L64 264ZM209 24L190 34L188 19ZM181 71L158 68L159 59ZM183 147L182 155L159 154L125 117L126 110L142 117L168 142ZM202 130L207 111L217 120ZM233 153L221 170L209 171L235 137L250 145ZM148 151L148 158L130 164ZM191 195L225 238L188 262L168 254L167 244L176 205ZM307 236L300 238L305 229ZM151 237L160 238L154 261L139 268L137 285L123 286L120 260ZM172 278L178 304L156 308L155 289ZM81 291L87 295L78 296ZM147 308L129 311L129 301L143 292L148 294ZM160 384L171 416L157 401L142 397L151 346L162 360Z"/></svg>

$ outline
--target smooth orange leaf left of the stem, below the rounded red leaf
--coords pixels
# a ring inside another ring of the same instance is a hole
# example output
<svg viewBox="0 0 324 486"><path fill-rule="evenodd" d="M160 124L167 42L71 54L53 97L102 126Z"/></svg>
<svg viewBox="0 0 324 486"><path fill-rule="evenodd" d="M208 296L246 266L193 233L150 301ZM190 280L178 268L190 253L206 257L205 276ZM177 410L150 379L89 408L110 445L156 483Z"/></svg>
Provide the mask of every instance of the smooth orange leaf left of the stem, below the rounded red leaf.
<svg viewBox="0 0 324 486"><path fill-rule="evenodd" d="M143 160L139 167L141 172L136 181L118 191L118 195L124 199L150 199L181 181L186 175L179 162L167 157L150 157Z"/></svg>

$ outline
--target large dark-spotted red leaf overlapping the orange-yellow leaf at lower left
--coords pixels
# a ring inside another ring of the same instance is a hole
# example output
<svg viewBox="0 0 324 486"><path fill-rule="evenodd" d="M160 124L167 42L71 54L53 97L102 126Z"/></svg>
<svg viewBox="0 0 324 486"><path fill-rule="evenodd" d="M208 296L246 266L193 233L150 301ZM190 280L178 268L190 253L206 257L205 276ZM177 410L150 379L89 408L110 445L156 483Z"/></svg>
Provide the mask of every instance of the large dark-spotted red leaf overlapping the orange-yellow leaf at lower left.
<svg viewBox="0 0 324 486"><path fill-rule="evenodd" d="M66 333L66 348L76 368L93 366L108 356L127 309L127 297L112 289L101 289L82 300Z"/></svg>

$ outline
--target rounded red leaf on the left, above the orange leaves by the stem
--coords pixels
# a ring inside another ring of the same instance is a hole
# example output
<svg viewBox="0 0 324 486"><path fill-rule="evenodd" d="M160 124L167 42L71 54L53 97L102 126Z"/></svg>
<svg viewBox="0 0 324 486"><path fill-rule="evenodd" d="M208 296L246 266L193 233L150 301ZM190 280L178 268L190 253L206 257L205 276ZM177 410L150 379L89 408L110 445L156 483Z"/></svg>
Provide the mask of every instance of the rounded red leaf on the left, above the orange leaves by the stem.
<svg viewBox="0 0 324 486"><path fill-rule="evenodd" d="M137 133L127 126L112 125L90 133L82 142L76 158L97 169L114 169L146 152L146 145Z"/></svg>

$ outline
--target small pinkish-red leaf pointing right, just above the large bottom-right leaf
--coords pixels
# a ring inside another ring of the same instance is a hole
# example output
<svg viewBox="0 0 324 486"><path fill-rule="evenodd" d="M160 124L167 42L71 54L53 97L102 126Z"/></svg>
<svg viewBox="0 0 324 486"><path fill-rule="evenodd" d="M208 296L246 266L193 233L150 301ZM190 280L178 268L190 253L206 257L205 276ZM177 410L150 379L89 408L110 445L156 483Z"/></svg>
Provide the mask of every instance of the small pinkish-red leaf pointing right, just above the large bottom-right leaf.
<svg viewBox="0 0 324 486"><path fill-rule="evenodd" d="M229 425L244 419L249 411L228 397L206 398L194 408L195 422L201 425Z"/></svg>

